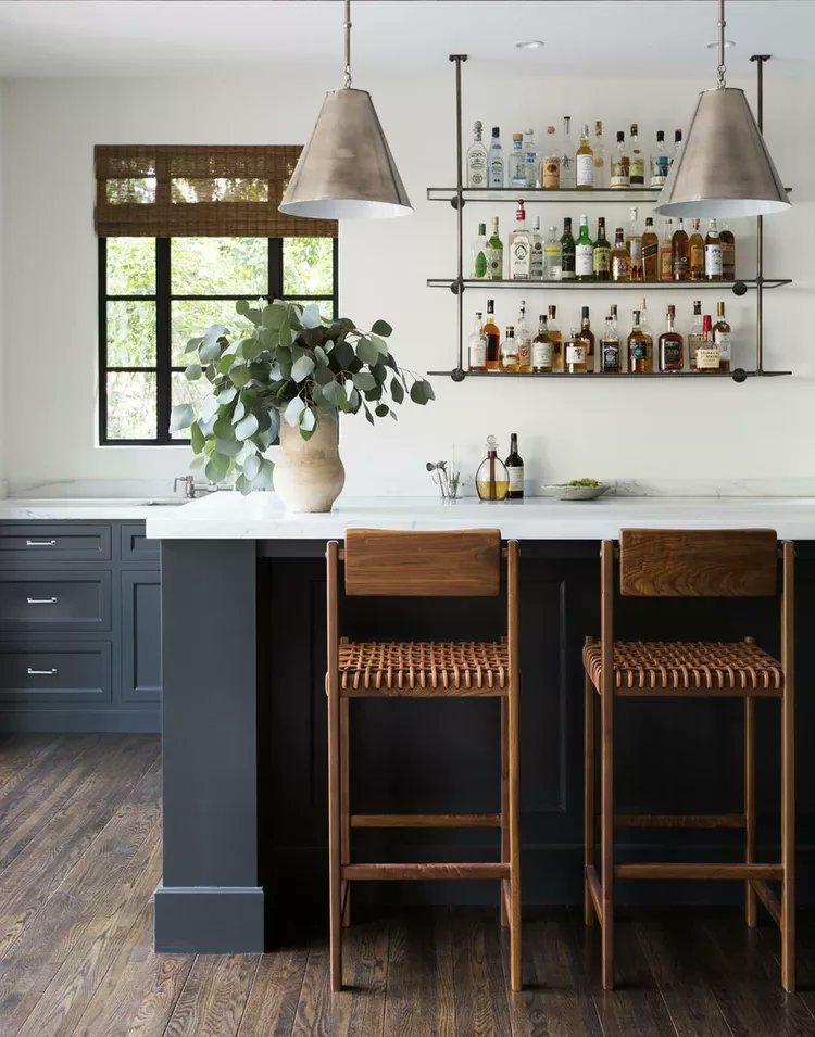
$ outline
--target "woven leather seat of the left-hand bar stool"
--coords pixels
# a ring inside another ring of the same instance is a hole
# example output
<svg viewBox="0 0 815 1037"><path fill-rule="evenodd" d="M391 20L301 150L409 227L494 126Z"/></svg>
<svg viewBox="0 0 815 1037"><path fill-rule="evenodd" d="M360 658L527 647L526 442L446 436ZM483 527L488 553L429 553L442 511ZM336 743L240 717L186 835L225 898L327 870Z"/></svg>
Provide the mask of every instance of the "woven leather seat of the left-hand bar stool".
<svg viewBox="0 0 815 1037"><path fill-rule="evenodd" d="M509 686L510 659L501 642L358 642L339 646L342 692L421 695Z"/></svg>

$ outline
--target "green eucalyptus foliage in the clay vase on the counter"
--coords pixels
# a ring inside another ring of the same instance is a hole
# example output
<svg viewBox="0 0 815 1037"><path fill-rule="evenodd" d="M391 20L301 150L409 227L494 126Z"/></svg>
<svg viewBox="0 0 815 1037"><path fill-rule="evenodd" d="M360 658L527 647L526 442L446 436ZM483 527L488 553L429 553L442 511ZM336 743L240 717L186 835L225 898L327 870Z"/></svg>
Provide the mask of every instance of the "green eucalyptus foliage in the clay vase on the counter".
<svg viewBox="0 0 815 1037"><path fill-rule="evenodd" d="M205 378L210 390L199 413L191 404L173 407L170 429L189 429L195 457L212 482L235 478L241 493L272 485L266 457L280 419L308 440L321 418L363 410L397 419L394 404L405 396L425 405L434 400L430 383L397 365L385 341L392 331L377 320L371 331L353 320L323 318L315 304L275 300L236 304L243 324L233 341L224 325L213 325L187 343L185 375Z"/></svg>

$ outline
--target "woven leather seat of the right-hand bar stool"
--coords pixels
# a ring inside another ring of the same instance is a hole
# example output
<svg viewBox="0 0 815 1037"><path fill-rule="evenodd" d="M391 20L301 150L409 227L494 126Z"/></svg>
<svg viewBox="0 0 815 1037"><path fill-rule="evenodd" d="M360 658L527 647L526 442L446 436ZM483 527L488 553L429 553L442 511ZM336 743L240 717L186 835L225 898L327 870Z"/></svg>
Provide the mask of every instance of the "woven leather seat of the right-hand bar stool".
<svg viewBox="0 0 815 1037"><path fill-rule="evenodd" d="M584 647L584 665L598 691L601 687L602 646ZM645 642L614 644L614 686L618 691L764 692L780 694L781 663L748 641Z"/></svg>

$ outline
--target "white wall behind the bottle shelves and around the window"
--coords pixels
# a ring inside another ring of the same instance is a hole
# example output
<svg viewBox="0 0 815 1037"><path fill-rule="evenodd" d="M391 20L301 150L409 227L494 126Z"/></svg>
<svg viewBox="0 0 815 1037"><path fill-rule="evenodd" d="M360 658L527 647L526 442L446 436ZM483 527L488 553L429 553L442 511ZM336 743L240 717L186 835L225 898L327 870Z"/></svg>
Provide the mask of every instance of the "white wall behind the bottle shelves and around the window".
<svg viewBox="0 0 815 1037"><path fill-rule="evenodd" d="M731 75L753 97L747 69ZM802 66L801 66L802 67ZM803 73L801 73L803 75ZM12 492L57 480L161 479L186 468L180 448L99 447L97 427L97 252L92 229L96 143L290 143L306 138L323 91L336 85L286 73L277 78L223 80L13 80L5 86L2 127L5 339L2 429L9 444L5 473ZM569 79L539 76L507 79L490 75L484 62L464 69L465 124L478 117L501 125L504 142L515 128L601 117L606 130L640 124L642 139L656 128L666 136L690 115L697 90L710 84L672 79ZM781 176L794 187L790 214L766 220L766 273L795 279L766 296L768 368L792 368L794 378L753 380L684 379L630 381L565 380L461 385L436 379L437 401L402 409L376 431L360 418L343 419L342 451L348 489L422 492L424 463L447 455L452 443L475 463L488 433L507 444L517 431L532 480L593 475L609 479L804 480L813 470L815 359L810 341L813 312L813 136L801 132L802 99L813 97L813 77L795 67L766 76L766 136ZM341 228L340 305L359 324L386 317L394 327L400 362L419 370L446 369L455 350L454 300L425 286L428 276L454 273L454 213L428 203L428 185L450 185L453 168L452 69L439 58L438 76L376 79L371 89L416 213L408 219L344 224ZM611 134L606 134L609 143ZM467 237L490 206L465 210ZM543 225L577 205L541 206ZM505 236L514 208L496 207ZM605 212L613 228L627 205L588 210L591 226ZM642 213L641 213L642 215ZM738 273L754 274L753 227L735 222ZM484 307L487 291L465 300L466 326ZM499 321L513 323L518 295L494 293ZM529 312L555 302L562 324L592 306L595 327L611 301L627 325L637 295L620 291L529 292ZM687 325L691 293L649 292L651 323L661 324L675 302ZM702 298L713 307L717 298ZM725 296L740 340L737 361L752 363L754 298Z"/></svg>

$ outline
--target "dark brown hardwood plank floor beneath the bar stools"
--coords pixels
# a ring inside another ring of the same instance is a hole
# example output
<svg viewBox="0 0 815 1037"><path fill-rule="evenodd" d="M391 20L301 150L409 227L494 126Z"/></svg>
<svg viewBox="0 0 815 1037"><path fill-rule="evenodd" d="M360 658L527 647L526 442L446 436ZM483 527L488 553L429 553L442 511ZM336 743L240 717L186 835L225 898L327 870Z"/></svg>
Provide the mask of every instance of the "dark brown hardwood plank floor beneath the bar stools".
<svg viewBox="0 0 815 1037"><path fill-rule="evenodd" d="M0 735L0 1037L815 1037L815 919L799 995L775 926L736 911L623 914L622 983L599 982L580 910L529 910L524 990L507 995L497 912L355 920L348 989L326 934L255 956L152 953L160 746L150 735Z"/></svg>

